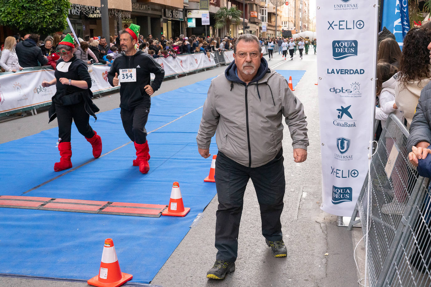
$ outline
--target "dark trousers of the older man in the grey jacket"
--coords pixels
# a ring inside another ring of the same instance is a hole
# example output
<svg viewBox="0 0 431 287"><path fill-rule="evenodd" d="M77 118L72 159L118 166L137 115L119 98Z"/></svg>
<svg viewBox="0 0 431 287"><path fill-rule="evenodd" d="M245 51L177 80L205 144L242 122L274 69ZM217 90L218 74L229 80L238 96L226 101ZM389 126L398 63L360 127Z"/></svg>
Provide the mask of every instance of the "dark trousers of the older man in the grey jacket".
<svg viewBox="0 0 431 287"><path fill-rule="evenodd" d="M283 160L281 149L268 164L244 167L219 151L215 161L215 186L219 198L215 223L215 248L219 250L216 259L228 262L237 259L244 191L250 178L259 201L262 235L269 241L283 238L280 222L285 188Z"/></svg>

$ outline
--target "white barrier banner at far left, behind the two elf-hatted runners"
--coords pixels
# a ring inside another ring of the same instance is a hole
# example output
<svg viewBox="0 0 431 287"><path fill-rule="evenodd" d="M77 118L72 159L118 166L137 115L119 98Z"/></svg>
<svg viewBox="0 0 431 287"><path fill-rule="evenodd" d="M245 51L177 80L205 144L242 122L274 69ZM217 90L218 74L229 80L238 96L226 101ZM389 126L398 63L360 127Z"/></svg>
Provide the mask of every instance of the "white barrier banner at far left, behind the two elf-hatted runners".
<svg viewBox="0 0 431 287"><path fill-rule="evenodd" d="M89 67L93 93L112 89L108 83L108 65ZM54 78L50 68L38 67L24 69L16 73L0 74L0 113L15 111L51 102L56 93L56 86L42 87L44 80Z"/></svg>

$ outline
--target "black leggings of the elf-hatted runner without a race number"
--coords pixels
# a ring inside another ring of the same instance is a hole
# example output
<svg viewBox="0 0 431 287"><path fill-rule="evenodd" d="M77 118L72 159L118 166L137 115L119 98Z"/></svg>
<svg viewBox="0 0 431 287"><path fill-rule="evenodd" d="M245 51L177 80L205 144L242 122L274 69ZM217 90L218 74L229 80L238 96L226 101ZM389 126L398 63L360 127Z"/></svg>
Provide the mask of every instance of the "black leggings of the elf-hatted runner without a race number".
<svg viewBox="0 0 431 287"><path fill-rule="evenodd" d="M75 105L66 106L55 104L58 122L58 137L61 139L61 142L70 142L72 119L81 135L85 136L87 139L94 136L94 131L88 123L90 115L85 111L84 105L84 101Z"/></svg>

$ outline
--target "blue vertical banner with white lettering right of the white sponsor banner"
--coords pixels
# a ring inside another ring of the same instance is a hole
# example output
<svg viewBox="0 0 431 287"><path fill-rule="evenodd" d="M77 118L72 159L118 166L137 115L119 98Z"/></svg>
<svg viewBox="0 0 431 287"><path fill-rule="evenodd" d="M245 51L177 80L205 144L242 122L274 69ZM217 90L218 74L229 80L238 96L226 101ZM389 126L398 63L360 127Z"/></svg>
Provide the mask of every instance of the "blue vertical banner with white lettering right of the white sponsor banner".
<svg viewBox="0 0 431 287"><path fill-rule="evenodd" d="M386 27L394 33L401 49L404 37L410 30L409 23L409 3L407 0L384 0L381 28Z"/></svg>

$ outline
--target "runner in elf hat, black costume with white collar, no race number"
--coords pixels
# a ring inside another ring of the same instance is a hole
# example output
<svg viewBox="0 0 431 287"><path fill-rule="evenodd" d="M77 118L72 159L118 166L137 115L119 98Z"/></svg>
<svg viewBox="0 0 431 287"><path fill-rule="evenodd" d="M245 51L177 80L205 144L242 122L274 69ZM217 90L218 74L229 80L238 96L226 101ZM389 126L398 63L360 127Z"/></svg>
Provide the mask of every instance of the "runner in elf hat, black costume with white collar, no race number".
<svg viewBox="0 0 431 287"><path fill-rule="evenodd" d="M91 77L88 74L87 65L74 56L73 52L75 52L75 45L68 34L57 46L56 53L61 56L61 59L57 62L55 78L49 82L42 82L43 87L55 84L57 89L48 112L49 121L56 117L58 121L58 150L61 158L54 164L54 171L72 167L70 160L72 120L78 132L91 143L93 156L97 158L102 153L102 139L88 123L90 115L96 119L95 112L99 111L91 101Z"/></svg>

